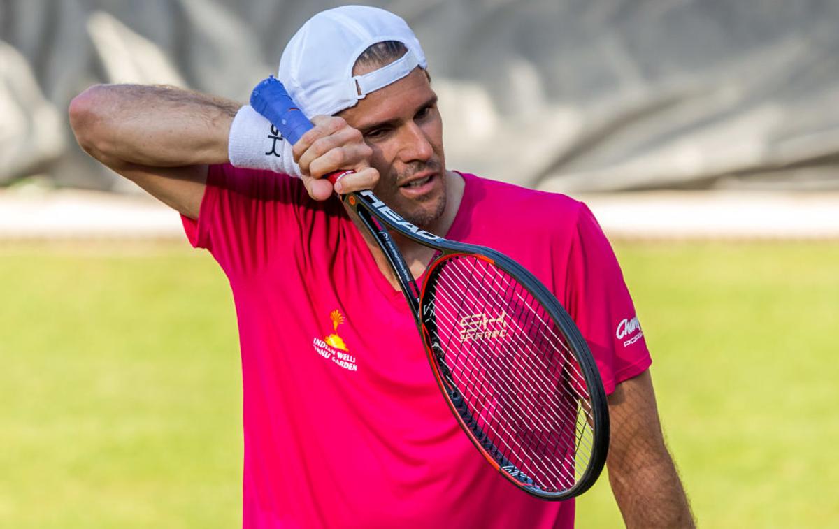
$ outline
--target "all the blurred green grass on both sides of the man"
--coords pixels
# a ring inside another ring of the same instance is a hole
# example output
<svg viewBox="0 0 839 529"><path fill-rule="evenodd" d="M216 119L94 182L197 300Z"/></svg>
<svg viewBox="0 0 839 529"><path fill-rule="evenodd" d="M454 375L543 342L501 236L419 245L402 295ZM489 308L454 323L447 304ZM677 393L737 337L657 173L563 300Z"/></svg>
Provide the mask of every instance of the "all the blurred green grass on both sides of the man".
<svg viewBox="0 0 839 529"><path fill-rule="evenodd" d="M617 246L706 527L839 520L839 244ZM0 246L0 526L231 527L227 281L181 246ZM620 526L607 480L578 526Z"/></svg>

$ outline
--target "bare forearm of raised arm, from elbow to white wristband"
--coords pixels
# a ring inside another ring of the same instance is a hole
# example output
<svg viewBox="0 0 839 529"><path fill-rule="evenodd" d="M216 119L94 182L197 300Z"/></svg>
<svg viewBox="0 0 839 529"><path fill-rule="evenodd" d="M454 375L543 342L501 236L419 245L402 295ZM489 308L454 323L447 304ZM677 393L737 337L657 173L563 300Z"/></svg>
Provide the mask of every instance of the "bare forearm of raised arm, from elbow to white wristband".
<svg viewBox="0 0 839 529"><path fill-rule="evenodd" d="M70 103L82 148L108 165L224 163L241 104L170 86L98 85Z"/></svg>

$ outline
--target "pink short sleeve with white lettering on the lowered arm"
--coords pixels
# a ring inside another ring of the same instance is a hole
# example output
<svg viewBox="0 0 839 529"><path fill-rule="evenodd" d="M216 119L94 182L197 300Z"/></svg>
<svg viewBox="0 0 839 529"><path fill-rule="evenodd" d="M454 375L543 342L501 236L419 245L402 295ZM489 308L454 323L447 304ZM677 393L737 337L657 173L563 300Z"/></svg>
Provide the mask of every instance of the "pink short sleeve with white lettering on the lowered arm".
<svg viewBox="0 0 839 529"><path fill-rule="evenodd" d="M652 360L618 259L581 204L567 267L565 307L586 338L607 393L638 376Z"/></svg>

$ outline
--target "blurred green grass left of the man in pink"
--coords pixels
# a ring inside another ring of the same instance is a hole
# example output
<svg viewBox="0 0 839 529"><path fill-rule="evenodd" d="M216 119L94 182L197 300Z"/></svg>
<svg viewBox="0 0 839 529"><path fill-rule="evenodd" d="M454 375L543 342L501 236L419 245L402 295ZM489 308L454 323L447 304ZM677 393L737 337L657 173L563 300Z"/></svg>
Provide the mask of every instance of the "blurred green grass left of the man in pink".
<svg viewBox="0 0 839 529"><path fill-rule="evenodd" d="M147 249L0 247L0 526L240 523L227 281Z"/></svg>

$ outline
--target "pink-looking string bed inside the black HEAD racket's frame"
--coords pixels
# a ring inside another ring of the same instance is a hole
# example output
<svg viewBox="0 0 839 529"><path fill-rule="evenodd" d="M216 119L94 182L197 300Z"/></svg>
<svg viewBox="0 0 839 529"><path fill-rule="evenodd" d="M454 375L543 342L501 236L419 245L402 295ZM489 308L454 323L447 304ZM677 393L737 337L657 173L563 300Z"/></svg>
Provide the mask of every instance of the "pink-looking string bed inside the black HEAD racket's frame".
<svg viewBox="0 0 839 529"><path fill-rule="evenodd" d="M591 458L593 420L558 326L491 263L458 256L440 267L433 294L440 364L503 459L543 490L567 490Z"/></svg>

